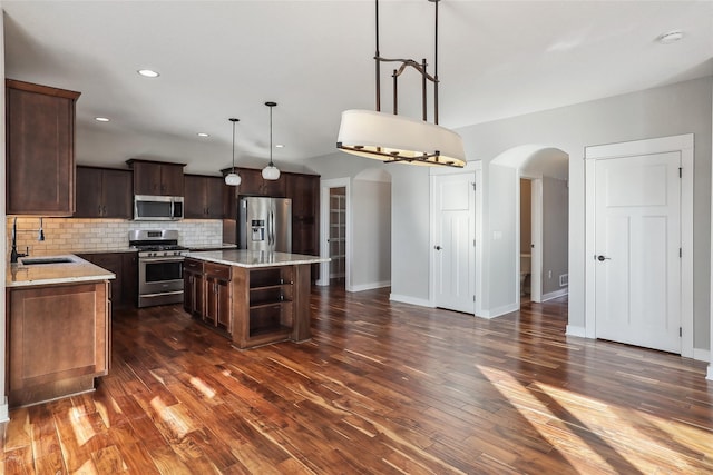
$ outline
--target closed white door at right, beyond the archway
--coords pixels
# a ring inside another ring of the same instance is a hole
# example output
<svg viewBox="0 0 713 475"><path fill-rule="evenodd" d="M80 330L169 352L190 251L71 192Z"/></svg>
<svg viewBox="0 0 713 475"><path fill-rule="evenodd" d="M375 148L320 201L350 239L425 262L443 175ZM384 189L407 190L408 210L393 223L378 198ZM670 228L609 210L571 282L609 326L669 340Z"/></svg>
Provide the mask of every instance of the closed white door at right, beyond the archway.
<svg viewBox="0 0 713 475"><path fill-rule="evenodd" d="M681 353L681 156L596 162L596 337Z"/></svg>

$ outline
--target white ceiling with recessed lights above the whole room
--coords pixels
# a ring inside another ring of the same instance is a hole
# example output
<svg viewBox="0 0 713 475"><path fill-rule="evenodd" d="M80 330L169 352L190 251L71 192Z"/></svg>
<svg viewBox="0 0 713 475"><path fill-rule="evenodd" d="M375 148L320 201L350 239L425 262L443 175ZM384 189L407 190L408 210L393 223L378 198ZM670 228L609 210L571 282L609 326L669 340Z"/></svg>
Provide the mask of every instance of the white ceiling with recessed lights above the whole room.
<svg viewBox="0 0 713 475"><path fill-rule="evenodd" d="M263 166L275 101L275 164L299 169L335 152L342 110L374 109L372 0L1 4L6 76L81 92L78 164L146 158L219 175L236 117L236 165ZM382 0L381 56L432 65L433 6ZM656 42L676 29L682 41ZM713 1L442 0L438 73L440 123L455 129L710 76ZM399 113L420 106L420 77L404 75Z"/></svg>

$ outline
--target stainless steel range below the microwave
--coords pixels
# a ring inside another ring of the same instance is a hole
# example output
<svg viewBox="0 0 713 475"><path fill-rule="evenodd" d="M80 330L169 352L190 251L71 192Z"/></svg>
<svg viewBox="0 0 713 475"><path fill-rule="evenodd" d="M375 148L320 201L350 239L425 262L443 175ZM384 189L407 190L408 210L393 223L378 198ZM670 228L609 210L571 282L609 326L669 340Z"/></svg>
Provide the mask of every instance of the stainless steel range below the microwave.
<svg viewBox="0 0 713 475"><path fill-rule="evenodd" d="M183 261L187 248L178 246L174 229L135 229L129 246L138 250L138 307L183 301Z"/></svg>

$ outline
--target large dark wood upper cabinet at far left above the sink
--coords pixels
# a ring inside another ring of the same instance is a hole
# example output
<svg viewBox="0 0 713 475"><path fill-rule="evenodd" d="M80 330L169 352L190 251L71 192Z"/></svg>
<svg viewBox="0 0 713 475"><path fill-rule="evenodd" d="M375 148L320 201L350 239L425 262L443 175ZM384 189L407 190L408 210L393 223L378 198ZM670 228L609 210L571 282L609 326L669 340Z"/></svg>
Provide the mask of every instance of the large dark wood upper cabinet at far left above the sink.
<svg viewBox="0 0 713 475"><path fill-rule="evenodd" d="M8 215L75 212L79 92L6 79Z"/></svg>

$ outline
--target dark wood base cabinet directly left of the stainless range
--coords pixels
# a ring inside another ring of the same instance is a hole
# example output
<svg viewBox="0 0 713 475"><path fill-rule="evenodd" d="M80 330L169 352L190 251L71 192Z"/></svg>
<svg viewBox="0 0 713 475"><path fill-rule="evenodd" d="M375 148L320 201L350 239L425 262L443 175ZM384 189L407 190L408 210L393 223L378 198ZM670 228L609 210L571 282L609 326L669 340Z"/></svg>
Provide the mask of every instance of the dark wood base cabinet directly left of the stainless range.
<svg viewBox="0 0 713 475"><path fill-rule="evenodd" d="M114 308L131 308L138 301L138 263L136 253L78 254L85 260L116 275L109 283Z"/></svg>

